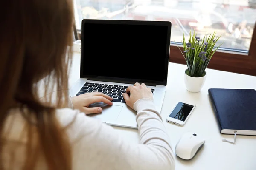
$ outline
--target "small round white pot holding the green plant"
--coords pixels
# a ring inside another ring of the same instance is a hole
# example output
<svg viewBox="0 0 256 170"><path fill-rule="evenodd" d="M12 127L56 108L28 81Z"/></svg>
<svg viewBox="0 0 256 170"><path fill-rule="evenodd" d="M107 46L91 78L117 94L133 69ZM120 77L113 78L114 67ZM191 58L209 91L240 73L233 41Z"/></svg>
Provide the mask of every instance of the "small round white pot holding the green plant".
<svg viewBox="0 0 256 170"><path fill-rule="evenodd" d="M186 89L192 93L201 91L207 74L205 74L203 77L190 77L185 72L186 71L184 71L184 81Z"/></svg>

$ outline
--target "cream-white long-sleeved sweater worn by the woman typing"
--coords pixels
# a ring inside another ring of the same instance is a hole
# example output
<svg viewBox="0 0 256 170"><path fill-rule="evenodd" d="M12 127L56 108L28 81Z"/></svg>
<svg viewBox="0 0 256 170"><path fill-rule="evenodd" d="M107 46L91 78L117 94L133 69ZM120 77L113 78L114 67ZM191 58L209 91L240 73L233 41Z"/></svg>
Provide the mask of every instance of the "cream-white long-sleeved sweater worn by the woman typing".
<svg viewBox="0 0 256 170"><path fill-rule="evenodd" d="M68 125L75 117L75 121L67 129L67 135L73 144L73 170L174 170L175 161L169 136L153 101L140 99L134 104L134 109L138 112L136 120L140 144L123 140L113 127L78 110L57 110L57 118L63 126ZM17 141L17 136L22 132L24 119L20 113L15 113L7 121L7 125L12 122L9 133L9 143L12 143ZM11 148L3 149L6 162ZM15 164L12 165L15 170L24 161L24 151L24 148L15 149ZM39 162L37 169L46 169L44 162Z"/></svg>

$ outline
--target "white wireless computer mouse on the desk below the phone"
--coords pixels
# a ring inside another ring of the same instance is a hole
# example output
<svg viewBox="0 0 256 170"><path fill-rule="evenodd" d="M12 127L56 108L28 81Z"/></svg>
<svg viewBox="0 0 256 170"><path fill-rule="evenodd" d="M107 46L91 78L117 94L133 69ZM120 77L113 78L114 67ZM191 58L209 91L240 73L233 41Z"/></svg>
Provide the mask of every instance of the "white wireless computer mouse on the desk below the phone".
<svg viewBox="0 0 256 170"><path fill-rule="evenodd" d="M202 136L191 132L184 133L176 144L175 153L181 159L192 159L204 143L205 139Z"/></svg>

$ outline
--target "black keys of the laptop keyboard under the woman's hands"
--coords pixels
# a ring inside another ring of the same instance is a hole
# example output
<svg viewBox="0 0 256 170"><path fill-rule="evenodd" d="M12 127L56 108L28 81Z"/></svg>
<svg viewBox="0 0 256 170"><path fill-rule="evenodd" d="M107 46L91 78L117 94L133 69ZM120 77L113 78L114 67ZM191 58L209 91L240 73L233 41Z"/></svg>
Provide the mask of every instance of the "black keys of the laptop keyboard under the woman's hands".
<svg viewBox="0 0 256 170"><path fill-rule="evenodd" d="M85 93L91 93L98 91L113 98L112 102L122 102L125 103L122 94L126 93L128 86L123 85L109 85L109 84L99 84L93 82L86 82L80 91L76 94L79 96ZM154 93L154 88L151 88L151 92Z"/></svg>

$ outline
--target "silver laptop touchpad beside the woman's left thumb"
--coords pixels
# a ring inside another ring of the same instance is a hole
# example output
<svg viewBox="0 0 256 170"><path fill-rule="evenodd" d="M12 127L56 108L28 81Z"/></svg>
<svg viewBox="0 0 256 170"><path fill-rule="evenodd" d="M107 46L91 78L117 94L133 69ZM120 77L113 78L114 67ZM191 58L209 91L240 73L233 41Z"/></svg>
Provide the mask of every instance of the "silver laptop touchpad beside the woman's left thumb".
<svg viewBox="0 0 256 170"><path fill-rule="evenodd" d="M102 108L102 113L87 115L90 117L101 119L102 122L115 121L118 118L119 113L122 110L122 106L106 105L105 103L95 103L93 105L90 105L89 107L101 107Z"/></svg>

